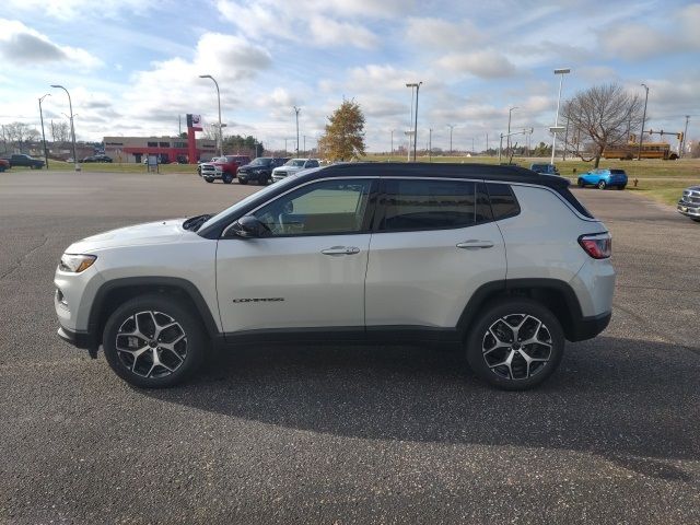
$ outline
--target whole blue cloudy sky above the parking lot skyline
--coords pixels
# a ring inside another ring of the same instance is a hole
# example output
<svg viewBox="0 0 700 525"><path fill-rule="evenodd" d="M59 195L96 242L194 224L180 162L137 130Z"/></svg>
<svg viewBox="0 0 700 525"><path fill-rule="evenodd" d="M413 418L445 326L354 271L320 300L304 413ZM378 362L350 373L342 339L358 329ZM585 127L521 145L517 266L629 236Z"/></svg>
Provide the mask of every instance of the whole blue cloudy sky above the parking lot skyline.
<svg viewBox="0 0 700 525"><path fill-rule="evenodd" d="M228 132L273 148L307 145L342 98L366 117L371 151L405 141L422 81L419 143L490 145L508 126L549 141L558 81L563 97L618 82L643 94L648 128L700 139L700 3L528 0L4 0L0 14L0 124L65 119L66 85L79 139L173 135L178 115L215 120L212 74ZM290 142L291 143L291 142Z"/></svg>

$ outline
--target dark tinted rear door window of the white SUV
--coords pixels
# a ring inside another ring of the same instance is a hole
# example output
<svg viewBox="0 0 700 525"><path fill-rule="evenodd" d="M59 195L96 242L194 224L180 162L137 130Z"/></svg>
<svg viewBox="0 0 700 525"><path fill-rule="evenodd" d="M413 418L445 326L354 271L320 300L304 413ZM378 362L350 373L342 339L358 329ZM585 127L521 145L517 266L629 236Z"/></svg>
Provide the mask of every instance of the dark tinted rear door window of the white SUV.
<svg viewBox="0 0 700 525"><path fill-rule="evenodd" d="M382 201L382 231L465 228L476 222L470 182L388 179Z"/></svg>

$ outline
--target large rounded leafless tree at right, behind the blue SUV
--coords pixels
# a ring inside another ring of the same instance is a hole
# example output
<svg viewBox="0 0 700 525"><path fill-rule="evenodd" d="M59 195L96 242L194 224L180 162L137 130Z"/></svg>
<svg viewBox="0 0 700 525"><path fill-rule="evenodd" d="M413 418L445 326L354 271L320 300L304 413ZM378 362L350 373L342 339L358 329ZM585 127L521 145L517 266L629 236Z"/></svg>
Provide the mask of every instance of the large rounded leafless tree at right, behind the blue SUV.
<svg viewBox="0 0 700 525"><path fill-rule="evenodd" d="M564 102L569 120L564 148L571 154L600 163L603 150L623 144L631 129L642 124L642 100L619 84L596 85Z"/></svg>

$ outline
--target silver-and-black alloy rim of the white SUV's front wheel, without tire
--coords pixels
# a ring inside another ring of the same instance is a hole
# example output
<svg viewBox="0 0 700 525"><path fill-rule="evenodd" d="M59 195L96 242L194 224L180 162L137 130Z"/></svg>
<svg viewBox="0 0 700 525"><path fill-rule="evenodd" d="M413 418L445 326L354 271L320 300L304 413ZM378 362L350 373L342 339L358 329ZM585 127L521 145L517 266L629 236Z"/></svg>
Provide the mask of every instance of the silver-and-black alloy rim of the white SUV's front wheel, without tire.
<svg viewBox="0 0 700 525"><path fill-rule="evenodd" d="M119 361L141 377L165 377L187 357L187 334L162 312L144 311L128 317L116 337Z"/></svg>

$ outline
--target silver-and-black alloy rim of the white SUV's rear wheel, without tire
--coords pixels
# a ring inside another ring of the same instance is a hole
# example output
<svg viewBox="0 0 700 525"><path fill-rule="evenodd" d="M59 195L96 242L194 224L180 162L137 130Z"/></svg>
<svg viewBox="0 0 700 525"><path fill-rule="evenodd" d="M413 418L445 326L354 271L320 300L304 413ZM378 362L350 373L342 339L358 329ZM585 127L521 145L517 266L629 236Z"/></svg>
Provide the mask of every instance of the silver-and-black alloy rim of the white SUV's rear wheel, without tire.
<svg viewBox="0 0 700 525"><path fill-rule="evenodd" d="M529 314L511 314L489 326L481 351L487 365L500 377L527 380L545 369L552 357L549 329Z"/></svg>

